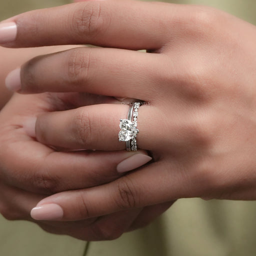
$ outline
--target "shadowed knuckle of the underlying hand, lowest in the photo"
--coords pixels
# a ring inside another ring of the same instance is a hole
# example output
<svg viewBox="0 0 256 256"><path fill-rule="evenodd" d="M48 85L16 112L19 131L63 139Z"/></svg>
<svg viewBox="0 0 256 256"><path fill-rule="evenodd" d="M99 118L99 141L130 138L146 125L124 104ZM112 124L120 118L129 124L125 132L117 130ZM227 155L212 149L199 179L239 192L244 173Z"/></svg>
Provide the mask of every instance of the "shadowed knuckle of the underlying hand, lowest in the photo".
<svg viewBox="0 0 256 256"><path fill-rule="evenodd" d="M108 224L95 224L93 226L93 235L95 240L114 240L122 234L121 228Z"/></svg>

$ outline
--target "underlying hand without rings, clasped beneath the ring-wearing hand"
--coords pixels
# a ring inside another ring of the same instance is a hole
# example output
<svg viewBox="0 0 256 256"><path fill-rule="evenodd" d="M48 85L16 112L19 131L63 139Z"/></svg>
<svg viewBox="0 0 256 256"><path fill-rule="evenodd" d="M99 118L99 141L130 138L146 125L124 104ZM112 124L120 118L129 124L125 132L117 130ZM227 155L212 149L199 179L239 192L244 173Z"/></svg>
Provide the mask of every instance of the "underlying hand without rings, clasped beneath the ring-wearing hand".
<svg viewBox="0 0 256 256"><path fill-rule="evenodd" d="M118 163L145 152L73 151L57 152L35 141L29 125L34 116L48 111L63 110L85 103L118 103L117 100L81 93L43 93L17 95L0 112L0 212L7 219L34 221L52 233L69 234L84 240L113 239L151 222L172 202L117 212L80 221L35 221L30 210L36 203L57 191L90 187L109 182L123 173ZM135 168L134 158L132 160ZM138 158L137 158L138 160ZM137 162L137 166L143 164ZM122 164L123 167L126 166ZM116 169L117 168L117 169ZM119 169L118 169L119 168ZM51 215L52 216L52 215Z"/></svg>

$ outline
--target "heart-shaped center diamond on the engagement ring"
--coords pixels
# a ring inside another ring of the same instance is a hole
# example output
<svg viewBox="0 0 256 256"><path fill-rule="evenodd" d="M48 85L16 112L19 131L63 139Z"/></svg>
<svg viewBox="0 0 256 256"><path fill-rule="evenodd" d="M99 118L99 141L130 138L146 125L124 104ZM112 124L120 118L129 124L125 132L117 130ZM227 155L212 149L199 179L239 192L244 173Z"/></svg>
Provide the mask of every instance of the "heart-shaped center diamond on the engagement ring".
<svg viewBox="0 0 256 256"><path fill-rule="evenodd" d="M128 119L120 120L119 127L121 129L118 133L119 141L128 141L135 138L138 133L138 129L134 126L134 123Z"/></svg>

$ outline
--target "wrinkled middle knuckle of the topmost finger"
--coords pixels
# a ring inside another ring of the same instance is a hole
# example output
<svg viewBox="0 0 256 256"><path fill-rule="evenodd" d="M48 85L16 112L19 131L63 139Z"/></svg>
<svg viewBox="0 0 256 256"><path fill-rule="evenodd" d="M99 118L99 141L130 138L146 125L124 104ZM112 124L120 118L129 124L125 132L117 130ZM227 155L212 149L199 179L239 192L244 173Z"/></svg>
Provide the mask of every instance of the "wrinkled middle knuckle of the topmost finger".
<svg viewBox="0 0 256 256"><path fill-rule="evenodd" d="M96 36L102 28L100 2L84 2L72 15L72 28L75 33L84 38Z"/></svg>

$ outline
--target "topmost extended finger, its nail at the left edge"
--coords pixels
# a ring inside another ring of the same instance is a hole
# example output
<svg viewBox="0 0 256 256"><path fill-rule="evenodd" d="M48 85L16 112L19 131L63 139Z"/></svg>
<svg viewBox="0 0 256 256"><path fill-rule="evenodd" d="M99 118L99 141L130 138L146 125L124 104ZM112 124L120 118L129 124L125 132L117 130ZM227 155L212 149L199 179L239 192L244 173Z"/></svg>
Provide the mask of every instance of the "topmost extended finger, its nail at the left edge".
<svg viewBox="0 0 256 256"><path fill-rule="evenodd" d="M127 49L163 45L176 9L140 1L83 1L17 15L0 25L0 43L9 47L94 44Z"/></svg>

